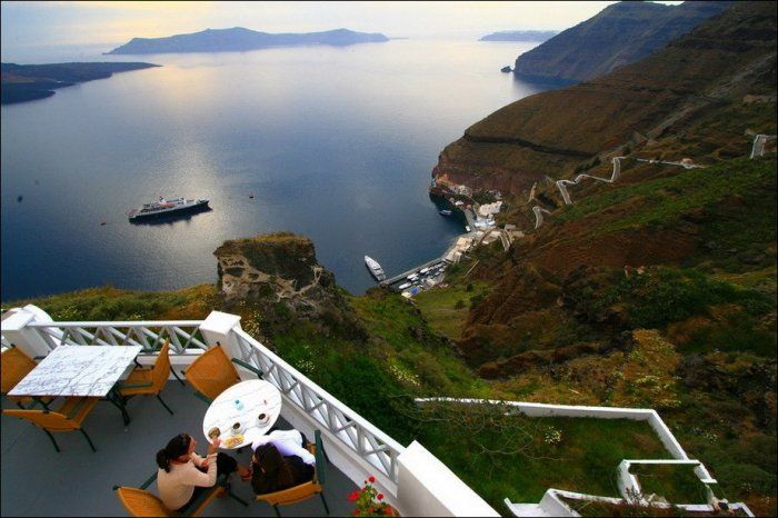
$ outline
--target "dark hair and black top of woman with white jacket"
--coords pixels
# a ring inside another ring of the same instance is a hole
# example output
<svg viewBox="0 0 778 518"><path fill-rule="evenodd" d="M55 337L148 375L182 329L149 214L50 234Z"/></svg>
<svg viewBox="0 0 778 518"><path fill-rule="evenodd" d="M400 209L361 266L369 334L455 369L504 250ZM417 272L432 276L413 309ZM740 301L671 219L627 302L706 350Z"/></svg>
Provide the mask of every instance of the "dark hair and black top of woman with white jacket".
<svg viewBox="0 0 778 518"><path fill-rule="evenodd" d="M251 461L251 487L257 495L289 489L313 479L313 466L296 455L282 456L272 442L257 447Z"/></svg>

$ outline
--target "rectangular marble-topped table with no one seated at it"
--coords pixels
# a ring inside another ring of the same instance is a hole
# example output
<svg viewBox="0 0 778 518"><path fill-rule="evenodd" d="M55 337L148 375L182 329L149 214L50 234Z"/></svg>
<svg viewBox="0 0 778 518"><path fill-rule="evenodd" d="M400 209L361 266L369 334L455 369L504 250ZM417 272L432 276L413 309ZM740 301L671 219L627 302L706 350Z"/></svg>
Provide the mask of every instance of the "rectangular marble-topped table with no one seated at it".
<svg viewBox="0 0 778 518"><path fill-rule="evenodd" d="M116 383L132 365L140 346L59 346L36 366L9 396L107 398L130 417Z"/></svg>

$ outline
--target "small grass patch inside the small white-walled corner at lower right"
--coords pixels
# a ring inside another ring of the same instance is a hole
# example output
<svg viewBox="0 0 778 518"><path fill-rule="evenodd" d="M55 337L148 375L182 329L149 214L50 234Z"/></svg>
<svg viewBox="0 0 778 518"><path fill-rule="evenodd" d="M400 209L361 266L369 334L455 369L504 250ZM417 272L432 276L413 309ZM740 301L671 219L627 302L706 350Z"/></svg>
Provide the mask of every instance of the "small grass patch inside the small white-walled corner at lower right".
<svg viewBox="0 0 778 518"><path fill-rule="evenodd" d="M655 494L670 504L707 504L705 484L695 475L694 466L632 465L644 496Z"/></svg>

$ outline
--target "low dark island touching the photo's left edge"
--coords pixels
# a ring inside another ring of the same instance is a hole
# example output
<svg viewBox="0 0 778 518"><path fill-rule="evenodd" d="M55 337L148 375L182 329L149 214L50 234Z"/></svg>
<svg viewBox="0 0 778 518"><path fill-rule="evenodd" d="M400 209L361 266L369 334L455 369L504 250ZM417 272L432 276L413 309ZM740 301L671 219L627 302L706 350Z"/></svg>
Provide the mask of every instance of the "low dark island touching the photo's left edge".
<svg viewBox="0 0 778 518"><path fill-rule="evenodd" d="M0 63L2 104L44 99L57 88L110 78L113 72L159 67L152 63Z"/></svg>

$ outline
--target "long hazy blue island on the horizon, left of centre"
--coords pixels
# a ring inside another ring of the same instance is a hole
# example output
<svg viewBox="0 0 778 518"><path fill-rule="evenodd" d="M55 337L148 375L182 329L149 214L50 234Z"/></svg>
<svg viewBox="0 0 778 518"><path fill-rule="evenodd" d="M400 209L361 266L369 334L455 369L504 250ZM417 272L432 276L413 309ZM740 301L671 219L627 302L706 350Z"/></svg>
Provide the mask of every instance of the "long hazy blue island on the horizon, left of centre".
<svg viewBox="0 0 778 518"><path fill-rule="evenodd" d="M132 38L129 43L117 47L107 53L231 52L268 47L308 44L343 47L356 43L382 43L385 41L389 41L389 38L381 33L355 32L349 29L271 34L235 27L232 29L206 29L191 34L176 34L168 38Z"/></svg>

